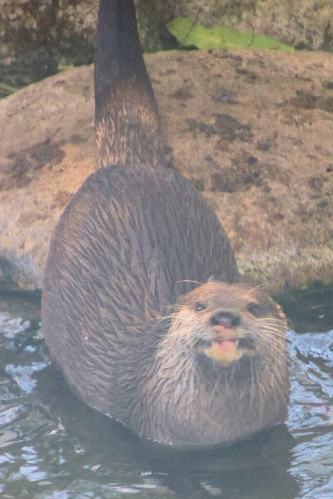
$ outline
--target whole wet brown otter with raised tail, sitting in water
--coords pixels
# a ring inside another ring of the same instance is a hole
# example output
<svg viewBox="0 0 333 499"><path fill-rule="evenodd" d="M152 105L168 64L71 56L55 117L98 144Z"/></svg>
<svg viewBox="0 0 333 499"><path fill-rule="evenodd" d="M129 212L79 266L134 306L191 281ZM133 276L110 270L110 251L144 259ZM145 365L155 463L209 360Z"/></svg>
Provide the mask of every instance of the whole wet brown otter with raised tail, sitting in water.
<svg viewBox="0 0 333 499"><path fill-rule="evenodd" d="M166 166L132 0L101 0L97 171L47 258L51 357L89 406L174 446L224 444L283 423L286 320L238 281L202 195Z"/></svg>

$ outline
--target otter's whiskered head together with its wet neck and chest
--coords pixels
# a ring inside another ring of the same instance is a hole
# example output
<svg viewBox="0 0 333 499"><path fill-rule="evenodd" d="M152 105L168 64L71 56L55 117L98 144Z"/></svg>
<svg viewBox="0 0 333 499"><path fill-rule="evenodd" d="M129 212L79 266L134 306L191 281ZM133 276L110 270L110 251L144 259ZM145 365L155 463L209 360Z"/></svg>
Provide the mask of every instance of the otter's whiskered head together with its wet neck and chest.
<svg viewBox="0 0 333 499"><path fill-rule="evenodd" d="M144 391L160 442L228 442L284 421L287 327L266 293L206 282L181 296L168 320Z"/></svg>

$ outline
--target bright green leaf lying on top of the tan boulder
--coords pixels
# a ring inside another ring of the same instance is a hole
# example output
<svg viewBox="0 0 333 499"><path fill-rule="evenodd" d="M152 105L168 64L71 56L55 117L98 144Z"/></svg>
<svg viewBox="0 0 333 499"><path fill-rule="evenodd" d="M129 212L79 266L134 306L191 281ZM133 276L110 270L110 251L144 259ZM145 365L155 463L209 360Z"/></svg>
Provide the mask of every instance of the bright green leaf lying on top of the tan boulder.
<svg viewBox="0 0 333 499"><path fill-rule="evenodd" d="M188 17L176 17L167 24L170 33L176 36L182 45L195 45L198 48L255 47L275 50L294 50L278 40L264 34L253 36L252 31L236 31L230 26L216 26L209 29L193 24Z"/></svg>

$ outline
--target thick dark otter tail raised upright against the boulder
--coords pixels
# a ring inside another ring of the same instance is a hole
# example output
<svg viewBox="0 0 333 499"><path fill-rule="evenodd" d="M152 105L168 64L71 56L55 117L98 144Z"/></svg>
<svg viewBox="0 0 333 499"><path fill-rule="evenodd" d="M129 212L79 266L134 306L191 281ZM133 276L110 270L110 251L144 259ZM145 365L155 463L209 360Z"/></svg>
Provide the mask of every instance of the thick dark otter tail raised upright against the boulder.
<svg viewBox="0 0 333 499"><path fill-rule="evenodd" d="M133 0L100 0L94 65L96 169L165 164Z"/></svg>

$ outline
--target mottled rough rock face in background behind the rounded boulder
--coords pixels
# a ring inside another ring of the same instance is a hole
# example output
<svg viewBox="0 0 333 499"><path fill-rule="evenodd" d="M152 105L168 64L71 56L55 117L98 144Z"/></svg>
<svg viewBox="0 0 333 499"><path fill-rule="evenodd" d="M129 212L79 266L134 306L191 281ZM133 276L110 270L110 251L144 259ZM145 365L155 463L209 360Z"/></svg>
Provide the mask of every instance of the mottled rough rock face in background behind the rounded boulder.
<svg viewBox="0 0 333 499"><path fill-rule="evenodd" d="M166 24L187 16L206 26L254 29L308 50L333 51L332 0L136 0L145 51L170 43ZM199 8L200 7L200 8ZM93 60L98 0L0 0L0 81L23 86L58 65Z"/></svg>

